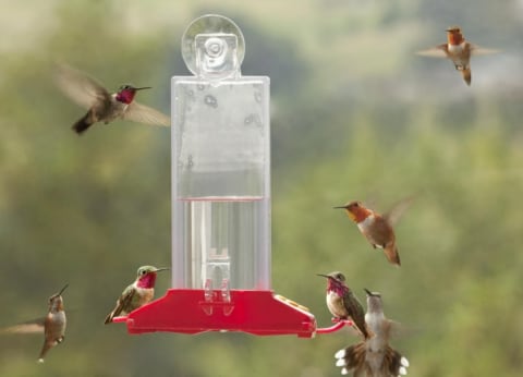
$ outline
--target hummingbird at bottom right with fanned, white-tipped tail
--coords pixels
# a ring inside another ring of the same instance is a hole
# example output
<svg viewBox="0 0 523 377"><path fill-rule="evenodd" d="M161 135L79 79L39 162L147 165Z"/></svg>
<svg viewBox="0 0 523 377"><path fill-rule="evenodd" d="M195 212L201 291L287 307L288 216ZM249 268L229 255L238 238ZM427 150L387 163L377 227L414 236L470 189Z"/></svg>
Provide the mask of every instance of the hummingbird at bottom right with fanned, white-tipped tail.
<svg viewBox="0 0 523 377"><path fill-rule="evenodd" d="M354 372L354 376L397 377L406 375L409 361L389 345L389 338L394 323L387 319L379 293L367 293L367 313L365 323L373 337L350 345L336 353L336 366L341 366L341 374Z"/></svg>

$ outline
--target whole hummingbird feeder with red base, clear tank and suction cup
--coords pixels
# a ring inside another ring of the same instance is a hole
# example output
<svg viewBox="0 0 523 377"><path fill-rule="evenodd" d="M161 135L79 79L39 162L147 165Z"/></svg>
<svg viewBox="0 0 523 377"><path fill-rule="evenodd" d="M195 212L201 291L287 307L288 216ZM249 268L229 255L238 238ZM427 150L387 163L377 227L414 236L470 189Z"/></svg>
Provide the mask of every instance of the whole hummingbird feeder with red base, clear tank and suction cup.
<svg viewBox="0 0 523 377"><path fill-rule="evenodd" d="M271 291L269 77L242 76L245 44L205 15L182 38L194 76L171 80L172 288L114 321L130 333L244 331L311 338L305 307Z"/></svg>

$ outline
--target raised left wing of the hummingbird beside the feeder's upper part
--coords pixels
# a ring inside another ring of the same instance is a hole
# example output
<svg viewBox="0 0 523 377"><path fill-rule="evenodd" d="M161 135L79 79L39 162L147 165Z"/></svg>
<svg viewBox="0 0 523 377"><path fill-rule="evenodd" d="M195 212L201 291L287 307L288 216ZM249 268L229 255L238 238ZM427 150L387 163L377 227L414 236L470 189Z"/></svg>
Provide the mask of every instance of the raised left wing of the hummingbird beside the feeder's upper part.
<svg viewBox="0 0 523 377"><path fill-rule="evenodd" d="M96 78L66 64L57 64L54 81L65 96L86 109L111 97Z"/></svg>

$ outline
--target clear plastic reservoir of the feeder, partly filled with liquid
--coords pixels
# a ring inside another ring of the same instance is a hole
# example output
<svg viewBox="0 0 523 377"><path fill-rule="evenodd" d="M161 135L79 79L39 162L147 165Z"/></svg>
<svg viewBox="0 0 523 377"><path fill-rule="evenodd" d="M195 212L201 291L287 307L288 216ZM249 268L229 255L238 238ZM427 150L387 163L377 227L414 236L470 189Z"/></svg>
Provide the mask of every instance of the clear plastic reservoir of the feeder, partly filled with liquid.
<svg viewBox="0 0 523 377"><path fill-rule="evenodd" d="M175 76L172 94L173 287L269 289L269 80Z"/></svg>

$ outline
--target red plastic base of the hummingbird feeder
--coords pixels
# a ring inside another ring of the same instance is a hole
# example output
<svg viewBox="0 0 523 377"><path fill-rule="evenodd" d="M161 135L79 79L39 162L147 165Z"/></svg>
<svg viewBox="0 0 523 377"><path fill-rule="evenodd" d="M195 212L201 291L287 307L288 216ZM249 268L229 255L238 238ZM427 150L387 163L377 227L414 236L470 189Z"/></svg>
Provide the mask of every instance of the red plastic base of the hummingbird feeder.
<svg viewBox="0 0 523 377"><path fill-rule="evenodd" d="M314 315L272 291L170 289L113 321L126 323L130 333L244 331L312 338L316 332Z"/></svg>

